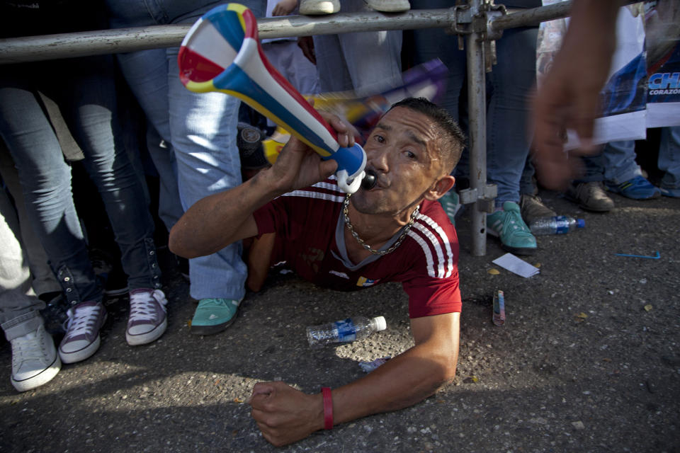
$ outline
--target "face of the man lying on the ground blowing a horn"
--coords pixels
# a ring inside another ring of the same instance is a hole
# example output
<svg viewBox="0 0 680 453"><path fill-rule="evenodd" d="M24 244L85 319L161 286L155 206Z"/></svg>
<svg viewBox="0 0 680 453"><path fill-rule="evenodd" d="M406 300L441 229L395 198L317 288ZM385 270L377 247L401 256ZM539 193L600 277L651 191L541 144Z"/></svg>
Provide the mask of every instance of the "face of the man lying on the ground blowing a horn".
<svg viewBox="0 0 680 453"><path fill-rule="evenodd" d="M399 215L419 202L443 173L441 132L426 115L405 107L386 113L364 145L366 168L378 181L352 204L364 214Z"/></svg>

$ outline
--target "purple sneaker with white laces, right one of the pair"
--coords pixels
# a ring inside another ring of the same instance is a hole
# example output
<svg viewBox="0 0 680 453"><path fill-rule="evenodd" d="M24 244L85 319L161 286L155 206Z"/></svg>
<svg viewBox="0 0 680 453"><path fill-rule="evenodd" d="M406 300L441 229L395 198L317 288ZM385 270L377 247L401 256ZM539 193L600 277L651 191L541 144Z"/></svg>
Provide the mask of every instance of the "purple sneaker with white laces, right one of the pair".
<svg viewBox="0 0 680 453"><path fill-rule="evenodd" d="M125 340L128 345L145 345L162 336L168 327L168 299L160 289L139 288L130 291L130 318Z"/></svg>

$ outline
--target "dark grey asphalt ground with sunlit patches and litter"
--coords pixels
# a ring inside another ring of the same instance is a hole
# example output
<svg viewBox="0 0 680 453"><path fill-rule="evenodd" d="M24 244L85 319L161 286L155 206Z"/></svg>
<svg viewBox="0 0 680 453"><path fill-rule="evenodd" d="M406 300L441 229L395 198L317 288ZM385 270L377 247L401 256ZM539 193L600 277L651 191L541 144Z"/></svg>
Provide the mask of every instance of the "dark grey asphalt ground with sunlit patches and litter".
<svg viewBox="0 0 680 453"><path fill-rule="evenodd" d="M680 200L612 195L616 208L594 214L541 195L586 227L540 236L526 258L540 266L533 277L493 265L505 253L493 238L486 256L471 256L470 221L458 219L458 372L426 401L272 447L249 414L253 384L316 393L361 377L359 361L412 345L406 295L392 284L337 293L272 273L227 331L192 336L195 302L161 249L169 326L156 343L128 346L127 300L108 300L96 355L23 394L9 381L10 345L0 345L0 451L680 452ZM498 289L502 327L492 323ZM362 314L385 316L387 330L307 346L305 326Z"/></svg>

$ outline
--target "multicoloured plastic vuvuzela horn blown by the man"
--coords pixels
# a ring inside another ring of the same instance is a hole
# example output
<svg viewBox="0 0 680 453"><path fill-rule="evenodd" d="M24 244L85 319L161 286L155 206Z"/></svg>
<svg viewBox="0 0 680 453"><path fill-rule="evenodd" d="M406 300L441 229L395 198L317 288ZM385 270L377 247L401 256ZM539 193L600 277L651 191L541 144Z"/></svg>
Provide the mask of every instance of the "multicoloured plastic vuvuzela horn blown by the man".
<svg viewBox="0 0 680 453"><path fill-rule="evenodd" d="M268 62L253 13L239 4L212 8L191 27L179 50L179 76L198 93L236 96L308 144L323 159L338 162L339 187L361 185L366 154L360 145L342 148L336 132Z"/></svg>

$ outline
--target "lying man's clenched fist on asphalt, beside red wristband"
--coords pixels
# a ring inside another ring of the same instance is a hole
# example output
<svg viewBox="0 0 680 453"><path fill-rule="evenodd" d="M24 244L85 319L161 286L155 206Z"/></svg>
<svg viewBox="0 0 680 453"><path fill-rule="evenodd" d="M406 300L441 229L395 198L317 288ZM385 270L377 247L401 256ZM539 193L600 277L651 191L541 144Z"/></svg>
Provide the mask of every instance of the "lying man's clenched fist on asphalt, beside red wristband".
<svg viewBox="0 0 680 453"><path fill-rule="evenodd" d="M263 437L276 447L324 428L321 394L307 395L283 382L258 382L249 403Z"/></svg>

